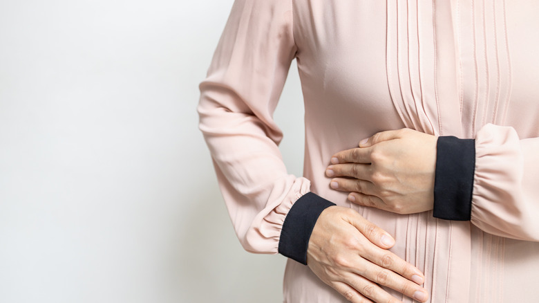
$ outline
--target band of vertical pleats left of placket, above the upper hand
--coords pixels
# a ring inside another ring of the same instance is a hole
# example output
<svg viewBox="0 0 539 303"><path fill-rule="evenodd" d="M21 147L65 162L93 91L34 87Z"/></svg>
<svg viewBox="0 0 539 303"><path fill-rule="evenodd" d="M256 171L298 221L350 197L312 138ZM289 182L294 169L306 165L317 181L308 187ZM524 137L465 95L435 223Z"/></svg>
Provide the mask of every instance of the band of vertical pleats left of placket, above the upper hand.
<svg viewBox="0 0 539 303"><path fill-rule="evenodd" d="M419 11L418 1L405 0L387 0L386 8L386 74L395 109L406 127L437 134L438 127L432 121L437 120L438 110L433 110L430 102L435 94L429 93L433 89L428 89L431 83L425 80L434 78L433 48L421 43L422 37L425 44L432 41L432 36L424 36L423 29L424 16L432 18L432 11Z"/></svg>

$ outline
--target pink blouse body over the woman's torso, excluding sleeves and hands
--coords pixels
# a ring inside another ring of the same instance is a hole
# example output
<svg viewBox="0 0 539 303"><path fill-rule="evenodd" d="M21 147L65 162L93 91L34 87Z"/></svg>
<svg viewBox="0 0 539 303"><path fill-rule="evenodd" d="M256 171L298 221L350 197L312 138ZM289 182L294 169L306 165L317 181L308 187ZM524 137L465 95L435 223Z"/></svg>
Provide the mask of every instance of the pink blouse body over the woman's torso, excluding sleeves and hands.
<svg viewBox="0 0 539 303"><path fill-rule="evenodd" d="M515 128L520 138L538 137L539 2L294 0L292 6L311 190L394 235L393 252L424 270L431 302L533 300L538 244L431 212L399 215L350 204L330 190L324 172L332 154L388 129L473 138L493 123ZM294 261L287 264L285 301L346 302Z"/></svg>

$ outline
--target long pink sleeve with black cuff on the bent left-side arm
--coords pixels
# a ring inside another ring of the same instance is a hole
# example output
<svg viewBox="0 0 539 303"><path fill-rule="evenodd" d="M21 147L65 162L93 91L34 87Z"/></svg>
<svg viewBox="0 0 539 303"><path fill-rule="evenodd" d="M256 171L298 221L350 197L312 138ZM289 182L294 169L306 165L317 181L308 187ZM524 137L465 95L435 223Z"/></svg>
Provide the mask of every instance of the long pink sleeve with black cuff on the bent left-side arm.
<svg viewBox="0 0 539 303"><path fill-rule="evenodd" d="M236 0L200 83L199 127L236 235L249 252L292 257L286 251L298 245L306 251L319 212L331 205L308 194L308 179L287 174L278 149L283 134L272 115L295 54L290 0ZM292 216L300 198L307 207ZM301 219L305 210L310 219ZM298 228L306 234L296 235ZM293 259L305 263L305 251Z"/></svg>

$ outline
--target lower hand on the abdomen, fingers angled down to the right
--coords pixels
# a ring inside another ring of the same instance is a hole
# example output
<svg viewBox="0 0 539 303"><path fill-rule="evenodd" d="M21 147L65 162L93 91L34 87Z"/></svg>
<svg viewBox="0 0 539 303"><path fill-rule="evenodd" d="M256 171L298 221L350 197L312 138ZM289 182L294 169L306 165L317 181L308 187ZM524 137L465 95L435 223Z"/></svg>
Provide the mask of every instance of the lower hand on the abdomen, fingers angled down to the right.
<svg viewBox="0 0 539 303"><path fill-rule="evenodd" d="M421 271L387 250L395 240L361 215L341 206L323 210L309 240L307 264L350 302L401 302L388 286L419 302L428 299Z"/></svg>

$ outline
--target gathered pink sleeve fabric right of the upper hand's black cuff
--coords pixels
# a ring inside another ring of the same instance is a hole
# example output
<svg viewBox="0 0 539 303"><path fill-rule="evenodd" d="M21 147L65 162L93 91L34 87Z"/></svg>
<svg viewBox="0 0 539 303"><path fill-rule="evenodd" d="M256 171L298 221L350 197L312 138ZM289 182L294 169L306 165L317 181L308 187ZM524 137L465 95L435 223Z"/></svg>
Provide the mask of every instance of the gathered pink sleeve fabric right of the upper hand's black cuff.
<svg viewBox="0 0 539 303"><path fill-rule="evenodd" d="M485 125L475 138L471 222L493 235L539 241L539 138Z"/></svg>

